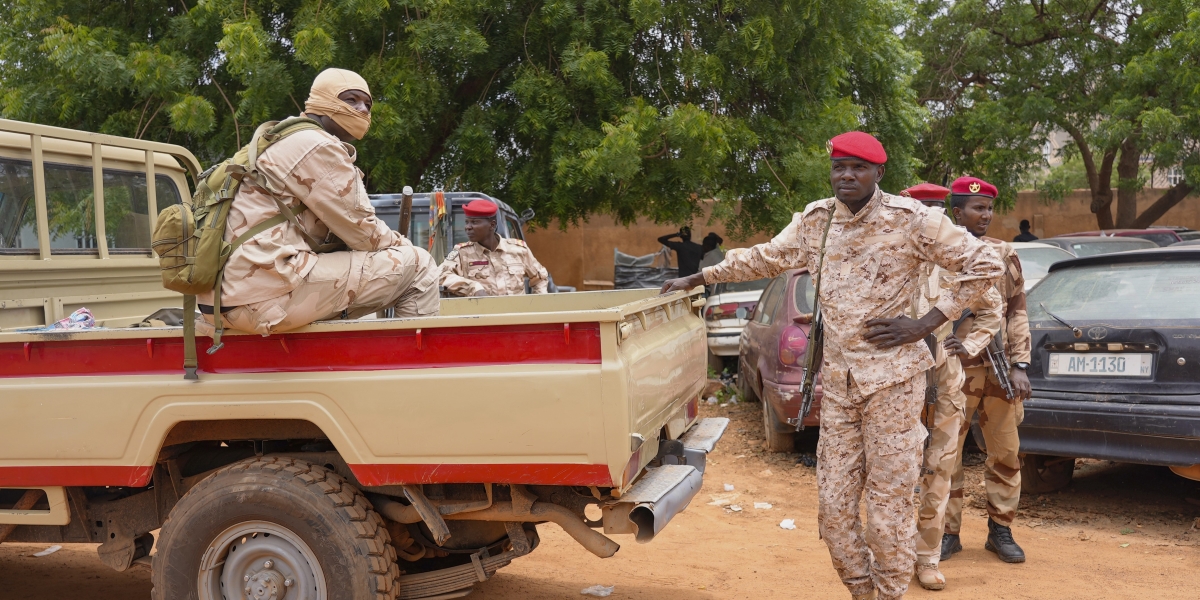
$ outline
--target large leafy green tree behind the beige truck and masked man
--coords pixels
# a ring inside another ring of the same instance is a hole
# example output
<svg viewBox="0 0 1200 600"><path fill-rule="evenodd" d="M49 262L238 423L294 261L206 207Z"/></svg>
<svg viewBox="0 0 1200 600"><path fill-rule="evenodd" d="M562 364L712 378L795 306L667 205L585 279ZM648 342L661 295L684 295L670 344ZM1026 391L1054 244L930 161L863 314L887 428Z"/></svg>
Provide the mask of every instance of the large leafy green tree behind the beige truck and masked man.
<svg viewBox="0 0 1200 600"><path fill-rule="evenodd" d="M5 116L181 143L204 162L300 112L322 68L376 98L372 191L479 190L539 221L736 233L826 197L826 140L910 182L922 112L895 0L0 0ZM740 200L740 202L727 202Z"/></svg>

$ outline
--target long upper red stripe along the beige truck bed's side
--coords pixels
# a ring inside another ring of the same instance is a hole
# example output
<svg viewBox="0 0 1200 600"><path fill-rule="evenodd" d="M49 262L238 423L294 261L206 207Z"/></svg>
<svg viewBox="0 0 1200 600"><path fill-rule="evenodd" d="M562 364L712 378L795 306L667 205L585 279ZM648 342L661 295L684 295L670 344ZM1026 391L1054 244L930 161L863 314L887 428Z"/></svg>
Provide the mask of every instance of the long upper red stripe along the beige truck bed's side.
<svg viewBox="0 0 1200 600"><path fill-rule="evenodd" d="M228 336L216 354L197 337L200 372L390 371L520 364L600 364L600 324L562 323L422 330ZM62 335L62 334L59 334ZM70 334L66 334L70 335ZM0 343L0 378L182 374L184 340L74 338Z"/></svg>

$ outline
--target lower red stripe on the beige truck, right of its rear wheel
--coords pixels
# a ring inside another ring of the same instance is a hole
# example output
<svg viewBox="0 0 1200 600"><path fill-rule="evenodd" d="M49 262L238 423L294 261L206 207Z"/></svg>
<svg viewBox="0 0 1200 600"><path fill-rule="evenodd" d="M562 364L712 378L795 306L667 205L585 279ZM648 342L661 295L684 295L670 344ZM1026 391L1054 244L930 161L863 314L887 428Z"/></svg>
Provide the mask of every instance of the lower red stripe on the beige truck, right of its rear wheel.
<svg viewBox="0 0 1200 600"><path fill-rule="evenodd" d="M400 484L529 484L611 486L607 464L350 464L367 486Z"/></svg>

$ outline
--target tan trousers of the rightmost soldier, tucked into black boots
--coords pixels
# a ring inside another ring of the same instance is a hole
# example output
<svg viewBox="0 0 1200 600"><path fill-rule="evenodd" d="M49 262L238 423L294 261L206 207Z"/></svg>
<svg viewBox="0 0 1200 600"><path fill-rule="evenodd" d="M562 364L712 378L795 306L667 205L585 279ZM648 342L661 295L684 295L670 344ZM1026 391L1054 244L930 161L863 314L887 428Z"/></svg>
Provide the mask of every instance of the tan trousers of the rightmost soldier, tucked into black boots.
<svg viewBox="0 0 1200 600"><path fill-rule="evenodd" d="M1021 440L1016 426L1025 419L1025 404L1008 400L986 365L964 370L966 383L966 420L959 430L959 460L950 479L950 502L946 509L946 533L962 529L962 443L967 438L971 415L979 412L979 430L988 446L984 463L984 488L988 492L988 516L998 524L1012 526L1021 500Z"/></svg>

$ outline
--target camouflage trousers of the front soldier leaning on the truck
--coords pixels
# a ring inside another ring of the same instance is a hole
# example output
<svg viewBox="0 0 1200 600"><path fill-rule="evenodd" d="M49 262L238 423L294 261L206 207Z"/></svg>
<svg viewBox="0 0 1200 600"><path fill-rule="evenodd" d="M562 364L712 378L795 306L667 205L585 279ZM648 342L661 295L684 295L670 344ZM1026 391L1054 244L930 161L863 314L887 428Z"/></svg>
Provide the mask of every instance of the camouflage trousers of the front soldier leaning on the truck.
<svg viewBox="0 0 1200 600"><path fill-rule="evenodd" d="M917 554L913 487L920 469L925 376L864 396L826 384L817 444L817 527L851 594L904 598ZM839 386L840 388L840 386ZM866 527L859 516L866 504Z"/></svg>

